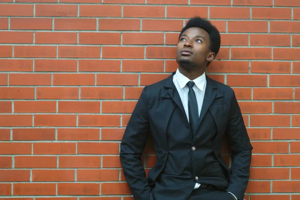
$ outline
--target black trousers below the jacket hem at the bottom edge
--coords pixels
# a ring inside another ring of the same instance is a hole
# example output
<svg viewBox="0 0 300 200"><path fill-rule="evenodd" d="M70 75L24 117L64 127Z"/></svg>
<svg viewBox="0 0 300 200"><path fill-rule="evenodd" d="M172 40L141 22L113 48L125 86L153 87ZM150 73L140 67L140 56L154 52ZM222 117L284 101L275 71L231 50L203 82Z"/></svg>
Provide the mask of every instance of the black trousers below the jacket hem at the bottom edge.
<svg viewBox="0 0 300 200"><path fill-rule="evenodd" d="M232 200L232 195L227 191L216 189L194 189L188 200Z"/></svg>

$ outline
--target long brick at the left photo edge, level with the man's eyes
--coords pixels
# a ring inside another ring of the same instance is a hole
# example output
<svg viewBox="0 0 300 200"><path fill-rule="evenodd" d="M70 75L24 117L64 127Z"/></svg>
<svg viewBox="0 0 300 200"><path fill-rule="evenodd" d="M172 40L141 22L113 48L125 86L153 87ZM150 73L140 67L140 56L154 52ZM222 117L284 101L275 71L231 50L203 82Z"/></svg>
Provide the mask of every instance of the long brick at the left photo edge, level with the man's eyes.
<svg viewBox="0 0 300 200"><path fill-rule="evenodd" d="M0 43L33 43L33 32L1 31Z"/></svg>

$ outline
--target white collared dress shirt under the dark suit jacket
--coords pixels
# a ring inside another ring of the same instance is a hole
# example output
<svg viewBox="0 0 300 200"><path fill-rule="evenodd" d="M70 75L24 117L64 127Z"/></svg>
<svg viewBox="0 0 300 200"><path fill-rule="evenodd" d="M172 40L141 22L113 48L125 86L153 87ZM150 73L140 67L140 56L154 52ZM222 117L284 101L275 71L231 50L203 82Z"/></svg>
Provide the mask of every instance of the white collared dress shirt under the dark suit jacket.
<svg viewBox="0 0 300 200"><path fill-rule="evenodd" d="M179 69L177 68L176 73L173 75L173 83L176 86L176 89L179 93L187 120L188 119L188 86L186 83L188 81L191 81L186 76L184 76L182 73L179 72ZM200 116L203 99L204 99L204 93L206 88L206 76L205 72L200 75L199 77L192 80L195 84L193 85L192 89L195 92L197 104L198 104L198 115ZM196 182L194 189L199 188L200 184ZM228 191L229 192L229 191ZM229 192L231 193L231 192ZM231 193L232 194L232 193ZM236 196L232 194L235 199L237 200Z"/></svg>

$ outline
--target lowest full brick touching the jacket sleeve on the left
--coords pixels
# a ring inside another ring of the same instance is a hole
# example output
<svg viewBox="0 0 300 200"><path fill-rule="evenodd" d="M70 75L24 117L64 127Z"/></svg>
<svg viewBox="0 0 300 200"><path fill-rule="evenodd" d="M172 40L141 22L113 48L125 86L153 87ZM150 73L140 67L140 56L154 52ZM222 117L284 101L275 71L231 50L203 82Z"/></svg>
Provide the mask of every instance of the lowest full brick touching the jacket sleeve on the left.
<svg viewBox="0 0 300 200"><path fill-rule="evenodd" d="M101 194L131 194L127 183L101 183Z"/></svg>

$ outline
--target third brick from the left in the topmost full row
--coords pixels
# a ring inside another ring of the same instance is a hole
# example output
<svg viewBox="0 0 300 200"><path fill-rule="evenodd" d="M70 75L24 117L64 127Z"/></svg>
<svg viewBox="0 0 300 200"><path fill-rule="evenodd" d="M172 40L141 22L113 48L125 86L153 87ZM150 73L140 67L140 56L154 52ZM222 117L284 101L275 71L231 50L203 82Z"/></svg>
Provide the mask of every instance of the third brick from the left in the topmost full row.
<svg viewBox="0 0 300 200"><path fill-rule="evenodd" d="M80 5L80 16L121 16L120 5Z"/></svg>

